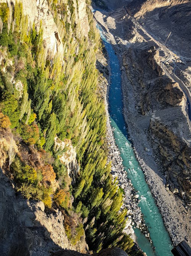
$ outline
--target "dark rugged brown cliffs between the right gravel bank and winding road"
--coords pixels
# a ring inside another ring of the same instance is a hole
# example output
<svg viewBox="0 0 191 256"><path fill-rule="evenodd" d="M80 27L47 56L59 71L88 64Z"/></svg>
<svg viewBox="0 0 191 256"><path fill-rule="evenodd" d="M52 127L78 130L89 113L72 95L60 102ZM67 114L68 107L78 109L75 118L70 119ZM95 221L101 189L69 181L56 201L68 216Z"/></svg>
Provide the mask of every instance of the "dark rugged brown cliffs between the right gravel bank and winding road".
<svg viewBox="0 0 191 256"><path fill-rule="evenodd" d="M134 88L136 109L152 116L149 122L150 147L160 159L166 186L189 203L189 128L184 109L184 97L177 83L173 83L159 66L159 52L129 48L123 64ZM182 129L185 127L185 134Z"/></svg>

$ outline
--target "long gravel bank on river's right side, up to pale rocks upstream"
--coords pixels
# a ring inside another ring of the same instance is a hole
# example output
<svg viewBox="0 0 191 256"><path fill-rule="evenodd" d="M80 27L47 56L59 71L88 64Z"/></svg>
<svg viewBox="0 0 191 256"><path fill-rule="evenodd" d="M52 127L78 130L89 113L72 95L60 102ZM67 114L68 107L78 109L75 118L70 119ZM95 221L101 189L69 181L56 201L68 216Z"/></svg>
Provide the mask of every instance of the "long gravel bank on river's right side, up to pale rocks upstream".
<svg viewBox="0 0 191 256"><path fill-rule="evenodd" d="M115 18L113 18L112 15L115 16ZM121 19L119 17L121 17ZM123 66L123 53L129 48L130 45L130 43L125 40L125 36L123 35L124 30L126 29L125 32L128 30L128 28L125 27L125 23L121 21L125 19L125 17L120 16L120 14L117 12L115 12L115 14L112 13L110 16L108 13L104 13L104 15L102 15L102 13L97 12L95 18L99 21L99 24L102 25L105 37L113 45L118 59L120 60L122 69L125 121L128 127L129 136L133 142L134 152L142 170L145 173L146 181L151 188L152 195L156 200L162 214L164 224L168 230L168 233L170 234L170 237L172 238L173 244L176 245L183 239L186 239L189 243L189 209L186 208L179 197L175 197L175 195L169 191L168 187L165 187L164 185L165 175L161 174L160 163L157 159L155 159L154 152L149 146L148 141L149 134L147 131L149 129L149 120L151 117L144 116L142 119L140 118L138 106L136 105L137 102L135 100L135 94L138 92L133 90L132 84L127 77L125 67ZM138 38L140 39L141 36ZM112 152L115 152L114 148L112 149ZM120 159L118 159L118 161L119 160ZM120 168L118 170L120 170L121 176L123 176L123 170Z"/></svg>

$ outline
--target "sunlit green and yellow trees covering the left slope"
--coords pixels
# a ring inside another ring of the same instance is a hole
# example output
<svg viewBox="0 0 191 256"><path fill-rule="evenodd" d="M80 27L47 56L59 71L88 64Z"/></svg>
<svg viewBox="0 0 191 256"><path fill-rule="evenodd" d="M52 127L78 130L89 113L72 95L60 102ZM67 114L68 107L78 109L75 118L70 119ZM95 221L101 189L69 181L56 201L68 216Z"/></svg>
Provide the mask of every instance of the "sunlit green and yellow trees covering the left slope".
<svg viewBox="0 0 191 256"><path fill-rule="evenodd" d="M54 57L44 48L42 24L38 33L34 24L29 27L21 3L15 3L14 28L8 23L9 8L0 5L0 128L11 127L20 147L26 147L10 172L24 197L65 209L72 244L85 232L94 251L113 246L129 250L133 240L122 233L127 214L121 210L123 191L107 164L105 105L95 67L99 32L87 8L90 30L83 36L73 0L59 5L53 0L49 8L63 43L62 53ZM56 136L70 139L77 152L80 172L72 186L59 160L64 150L55 149ZM27 150L34 153L28 157Z"/></svg>

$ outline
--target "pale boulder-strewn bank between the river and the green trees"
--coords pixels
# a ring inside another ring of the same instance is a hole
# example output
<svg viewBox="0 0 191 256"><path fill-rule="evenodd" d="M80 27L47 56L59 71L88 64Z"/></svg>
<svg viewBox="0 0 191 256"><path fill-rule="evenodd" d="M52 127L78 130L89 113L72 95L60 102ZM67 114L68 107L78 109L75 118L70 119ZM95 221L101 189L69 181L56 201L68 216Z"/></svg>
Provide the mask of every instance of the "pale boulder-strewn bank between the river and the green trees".
<svg viewBox="0 0 191 256"><path fill-rule="evenodd" d="M110 84L110 66L109 66L109 58L106 50L103 50L104 55L98 53L98 65L97 68L102 73L100 75L100 88L102 90L102 95L105 95L105 111L107 115L107 146L108 146L108 162L112 163L112 176L113 180L118 178L118 185L124 191L124 203L121 207L121 210L124 208L128 209L127 222L124 232L128 235L131 235L133 240L136 242L136 236L134 234L133 226L139 228L145 236L149 238L149 233L147 231L147 227L144 223L144 219L142 218L141 208L138 206L139 203L139 195L133 188L131 180L128 179L127 173L124 170L122 159L120 156L120 151L115 144L115 138L113 135L113 128L110 124L110 116L108 113L108 92L109 92L109 84Z"/></svg>

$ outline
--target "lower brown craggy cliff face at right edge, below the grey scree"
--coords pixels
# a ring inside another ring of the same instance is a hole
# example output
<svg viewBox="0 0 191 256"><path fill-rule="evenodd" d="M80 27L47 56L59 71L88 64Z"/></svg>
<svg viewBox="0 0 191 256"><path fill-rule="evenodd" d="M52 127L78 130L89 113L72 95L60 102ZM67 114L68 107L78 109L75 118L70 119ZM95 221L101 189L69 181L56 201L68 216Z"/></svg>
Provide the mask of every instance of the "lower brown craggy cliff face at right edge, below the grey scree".
<svg viewBox="0 0 191 256"><path fill-rule="evenodd" d="M186 203L190 201L190 147L172 127L159 119L152 119L149 137L156 155L161 160L166 187L178 194Z"/></svg>

